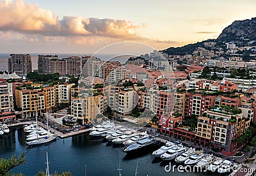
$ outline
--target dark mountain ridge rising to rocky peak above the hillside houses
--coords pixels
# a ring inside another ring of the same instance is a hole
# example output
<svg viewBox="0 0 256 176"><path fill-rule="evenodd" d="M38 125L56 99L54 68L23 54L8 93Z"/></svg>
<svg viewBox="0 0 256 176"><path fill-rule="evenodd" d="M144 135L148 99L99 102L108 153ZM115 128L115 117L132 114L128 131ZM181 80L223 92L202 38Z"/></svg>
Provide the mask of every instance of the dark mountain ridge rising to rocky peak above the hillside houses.
<svg viewBox="0 0 256 176"><path fill-rule="evenodd" d="M222 33L216 40L217 45L223 45L223 41L243 41L243 40L256 40L256 17L251 20L236 20L230 26L225 27ZM170 47L165 50L161 50L171 55L186 55L192 54L197 47L204 47L204 42L191 43L184 45L183 47Z"/></svg>

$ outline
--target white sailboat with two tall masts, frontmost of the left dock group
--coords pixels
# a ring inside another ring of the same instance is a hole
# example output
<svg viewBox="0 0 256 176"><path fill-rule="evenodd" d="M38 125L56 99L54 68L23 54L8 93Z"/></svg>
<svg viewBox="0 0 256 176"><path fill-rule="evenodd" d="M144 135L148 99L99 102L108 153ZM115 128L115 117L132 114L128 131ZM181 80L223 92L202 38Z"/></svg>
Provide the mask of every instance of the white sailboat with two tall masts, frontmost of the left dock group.
<svg viewBox="0 0 256 176"><path fill-rule="evenodd" d="M37 113L36 113L36 131L38 131ZM49 135L48 114L47 114L47 136L45 136L44 138L39 138L38 133L36 133L36 139L31 140L31 141L26 142L26 143L28 145L39 145L39 144L52 142L53 140L56 140L56 136L50 136Z"/></svg>

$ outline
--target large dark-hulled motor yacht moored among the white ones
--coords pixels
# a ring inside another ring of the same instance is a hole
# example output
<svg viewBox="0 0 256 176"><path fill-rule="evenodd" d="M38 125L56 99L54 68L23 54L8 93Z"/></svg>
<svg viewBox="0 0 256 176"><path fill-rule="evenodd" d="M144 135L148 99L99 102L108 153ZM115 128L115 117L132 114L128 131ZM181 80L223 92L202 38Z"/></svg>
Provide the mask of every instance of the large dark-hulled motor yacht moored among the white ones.
<svg viewBox="0 0 256 176"><path fill-rule="evenodd" d="M139 140L136 143L124 147L123 150L124 152L127 152L129 154L132 152L146 150L147 148L153 147L154 145L157 145L157 141L154 138L145 138L143 140Z"/></svg>

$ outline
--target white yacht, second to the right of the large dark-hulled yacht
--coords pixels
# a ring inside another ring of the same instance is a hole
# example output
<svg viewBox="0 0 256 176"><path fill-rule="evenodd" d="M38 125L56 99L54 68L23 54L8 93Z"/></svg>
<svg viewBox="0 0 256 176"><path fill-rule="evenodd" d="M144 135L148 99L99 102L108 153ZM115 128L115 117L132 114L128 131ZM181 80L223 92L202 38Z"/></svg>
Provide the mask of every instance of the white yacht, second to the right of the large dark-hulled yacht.
<svg viewBox="0 0 256 176"><path fill-rule="evenodd" d="M161 159L172 160L184 152L186 152L186 148L183 145L173 145L169 150L161 155Z"/></svg>

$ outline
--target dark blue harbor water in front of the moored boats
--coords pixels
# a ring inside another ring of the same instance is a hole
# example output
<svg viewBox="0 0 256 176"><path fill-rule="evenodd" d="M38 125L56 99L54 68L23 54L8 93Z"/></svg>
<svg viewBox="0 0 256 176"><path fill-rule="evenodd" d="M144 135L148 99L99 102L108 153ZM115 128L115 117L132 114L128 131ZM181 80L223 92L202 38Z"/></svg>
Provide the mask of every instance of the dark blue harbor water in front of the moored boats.
<svg viewBox="0 0 256 176"><path fill-rule="evenodd" d="M122 175L134 175L138 162L138 175L214 175L214 173L179 173L166 172L164 166L169 162L154 159L152 152L129 156L122 147L113 147L102 140L90 140L88 134L57 138L56 142L40 147L28 148L25 143L23 128L10 128L10 133L0 139L1 158L10 158L13 154L26 152L26 164L13 169L13 173L35 175L38 170L46 168L46 152L49 158L49 170L71 172L73 175L118 175L121 156ZM175 165L175 163L172 163Z"/></svg>

